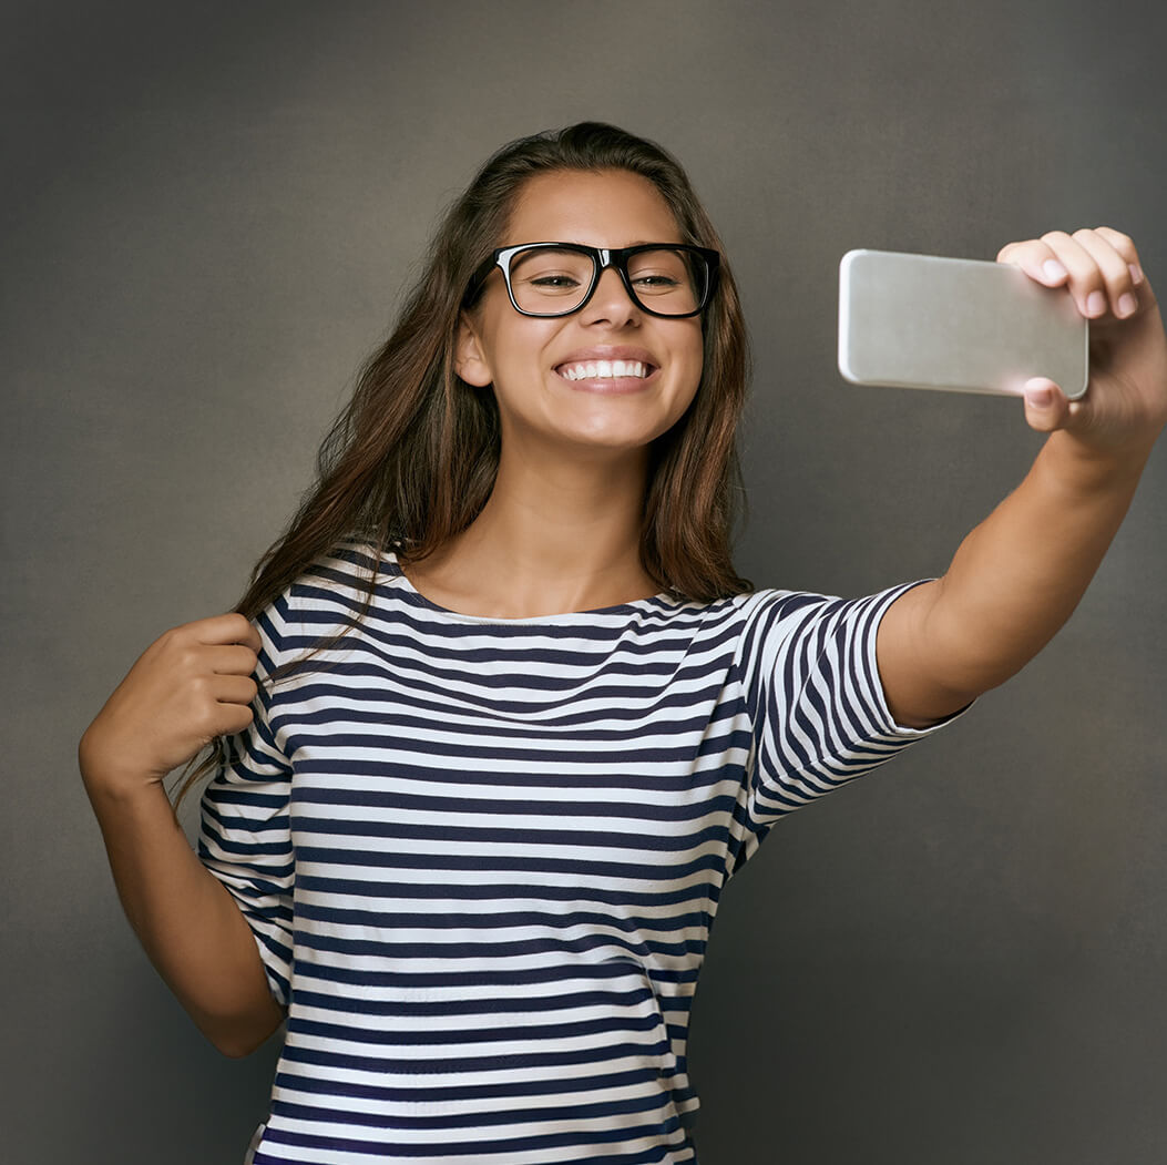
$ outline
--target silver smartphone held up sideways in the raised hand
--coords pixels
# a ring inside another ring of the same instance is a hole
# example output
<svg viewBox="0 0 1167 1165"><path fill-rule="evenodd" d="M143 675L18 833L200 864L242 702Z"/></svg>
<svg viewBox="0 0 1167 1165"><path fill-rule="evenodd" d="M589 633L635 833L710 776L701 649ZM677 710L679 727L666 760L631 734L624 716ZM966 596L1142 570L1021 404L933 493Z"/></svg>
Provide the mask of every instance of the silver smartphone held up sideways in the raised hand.
<svg viewBox="0 0 1167 1165"><path fill-rule="evenodd" d="M901 251L839 264L839 371L853 384L1020 396L1047 376L1075 400L1088 343L1067 289L1009 264Z"/></svg>

